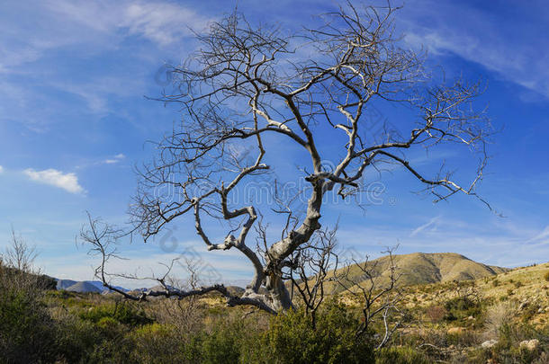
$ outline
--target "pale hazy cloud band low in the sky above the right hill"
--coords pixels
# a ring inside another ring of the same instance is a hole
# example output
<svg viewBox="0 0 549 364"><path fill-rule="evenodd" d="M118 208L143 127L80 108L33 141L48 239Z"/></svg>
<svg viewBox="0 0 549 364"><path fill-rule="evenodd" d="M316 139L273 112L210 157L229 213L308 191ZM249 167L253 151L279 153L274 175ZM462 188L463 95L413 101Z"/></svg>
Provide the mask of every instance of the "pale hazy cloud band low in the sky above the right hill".
<svg viewBox="0 0 549 364"><path fill-rule="evenodd" d="M477 262L503 267L546 262L549 244L544 239L549 237L546 235L549 226L533 229L533 226L525 225L514 226L509 219L471 222L440 217L436 223L437 229L430 229L428 235L410 236L410 229L373 225L338 230L338 240L345 242L347 250L355 250L355 256L361 257L367 253L373 259L383 255L379 252L386 246L399 243L400 247L395 252L398 254L460 253ZM541 240L527 244L526 236L535 236ZM533 245L536 249L533 249Z"/></svg>

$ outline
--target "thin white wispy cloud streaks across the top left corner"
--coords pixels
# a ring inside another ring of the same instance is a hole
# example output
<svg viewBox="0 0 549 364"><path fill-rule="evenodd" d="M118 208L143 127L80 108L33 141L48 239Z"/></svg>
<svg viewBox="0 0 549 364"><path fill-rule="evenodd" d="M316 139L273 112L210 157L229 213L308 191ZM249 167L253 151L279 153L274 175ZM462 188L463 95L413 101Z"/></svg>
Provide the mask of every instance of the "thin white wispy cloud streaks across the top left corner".
<svg viewBox="0 0 549 364"><path fill-rule="evenodd" d="M169 1L50 0L36 4L0 5L0 70L40 59L49 49L86 45L86 52L113 49L129 36L139 36L166 46L182 36L200 31L211 18L191 6ZM33 27L16 15L36 18Z"/></svg>

